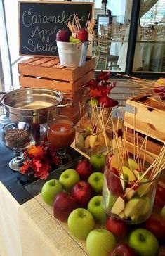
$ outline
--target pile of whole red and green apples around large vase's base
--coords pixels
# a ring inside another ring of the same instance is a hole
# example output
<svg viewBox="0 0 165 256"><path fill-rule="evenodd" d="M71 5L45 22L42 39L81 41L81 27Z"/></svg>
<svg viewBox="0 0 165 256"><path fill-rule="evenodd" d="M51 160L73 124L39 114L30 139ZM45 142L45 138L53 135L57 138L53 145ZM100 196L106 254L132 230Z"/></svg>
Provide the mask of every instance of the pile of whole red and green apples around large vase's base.
<svg viewBox="0 0 165 256"><path fill-rule="evenodd" d="M86 239L89 256L156 256L156 237L161 238L157 226L165 232L165 207L159 225L160 217L151 216L152 222L149 218L144 228L131 229L128 234L126 222L107 216L103 208L104 166L105 155L93 154L90 160L79 160L74 169L62 172L59 180L45 182L41 189L44 202L53 206L55 218L67 222L72 236Z"/></svg>

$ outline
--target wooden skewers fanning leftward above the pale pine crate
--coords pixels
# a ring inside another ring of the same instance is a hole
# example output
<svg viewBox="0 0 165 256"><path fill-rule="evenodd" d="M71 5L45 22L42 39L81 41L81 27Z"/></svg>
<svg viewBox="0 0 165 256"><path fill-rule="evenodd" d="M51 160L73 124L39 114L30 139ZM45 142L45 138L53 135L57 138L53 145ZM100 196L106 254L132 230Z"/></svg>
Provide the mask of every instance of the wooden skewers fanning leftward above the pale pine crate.
<svg viewBox="0 0 165 256"><path fill-rule="evenodd" d="M131 88L131 90L136 91L138 95L147 95L152 97L157 101L165 100L165 78L160 77L157 81L151 81L148 79L142 79L138 77L131 77L128 75L117 74L120 76L128 77L129 82L135 84L138 88Z"/></svg>

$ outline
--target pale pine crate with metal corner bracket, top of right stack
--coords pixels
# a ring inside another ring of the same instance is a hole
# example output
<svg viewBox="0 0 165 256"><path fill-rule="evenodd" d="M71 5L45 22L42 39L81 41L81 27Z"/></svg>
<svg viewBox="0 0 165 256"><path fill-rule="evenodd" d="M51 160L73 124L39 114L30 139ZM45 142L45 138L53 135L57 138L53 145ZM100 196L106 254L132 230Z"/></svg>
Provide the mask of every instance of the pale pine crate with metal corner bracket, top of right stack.
<svg viewBox="0 0 165 256"><path fill-rule="evenodd" d="M148 96L136 96L126 101L125 124L156 141L165 142L165 105Z"/></svg>

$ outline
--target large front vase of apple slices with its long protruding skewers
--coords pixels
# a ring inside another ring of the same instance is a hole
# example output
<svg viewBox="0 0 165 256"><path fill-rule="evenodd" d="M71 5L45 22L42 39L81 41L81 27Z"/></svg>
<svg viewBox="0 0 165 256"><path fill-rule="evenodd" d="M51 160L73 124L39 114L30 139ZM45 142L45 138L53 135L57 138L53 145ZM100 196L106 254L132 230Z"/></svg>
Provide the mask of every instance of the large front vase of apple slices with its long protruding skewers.
<svg viewBox="0 0 165 256"><path fill-rule="evenodd" d="M114 139L112 151L106 158L106 189L103 189L105 210L131 224L144 222L152 213L157 180L165 168L165 143L154 159L146 152L148 132L141 146L138 133L134 132L134 143L130 146L126 141L127 127L123 129L122 139L118 137L113 120L112 127ZM105 134L104 122L102 129Z"/></svg>

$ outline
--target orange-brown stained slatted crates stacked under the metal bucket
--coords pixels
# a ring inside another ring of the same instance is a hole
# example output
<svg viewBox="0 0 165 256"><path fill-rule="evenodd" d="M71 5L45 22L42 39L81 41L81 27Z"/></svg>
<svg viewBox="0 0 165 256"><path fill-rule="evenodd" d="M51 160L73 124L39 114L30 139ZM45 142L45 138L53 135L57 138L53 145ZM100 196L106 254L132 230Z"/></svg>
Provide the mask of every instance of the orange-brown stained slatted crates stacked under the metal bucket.
<svg viewBox="0 0 165 256"><path fill-rule="evenodd" d="M21 87L44 87L61 91L64 98L72 98L72 106L60 108L60 115L74 123L80 119L79 102L85 103L84 87L94 77L95 58L87 58L83 67L67 68L60 65L59 58L29 58L18 63Z"/></svg>

